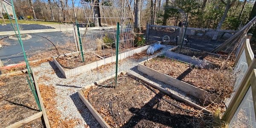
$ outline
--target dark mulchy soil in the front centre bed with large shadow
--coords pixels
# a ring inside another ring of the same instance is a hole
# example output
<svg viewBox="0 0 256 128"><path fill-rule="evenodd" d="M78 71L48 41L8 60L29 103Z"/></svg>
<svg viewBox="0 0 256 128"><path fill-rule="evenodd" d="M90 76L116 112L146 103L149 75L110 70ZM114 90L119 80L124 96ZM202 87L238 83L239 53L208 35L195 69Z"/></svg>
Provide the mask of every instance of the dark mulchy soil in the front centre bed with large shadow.
<svg viewBox="0 0 256 128"><path fill-rule="evenodd" d="M147 84L145 84L147 85ZM193 109L177 102L147 85L128 76L119 76L116 88L114 79L99 87L84 90L84 96L113 128L184 128L193 127L192 113L175 108L163 97L181 108Z"/></svg>

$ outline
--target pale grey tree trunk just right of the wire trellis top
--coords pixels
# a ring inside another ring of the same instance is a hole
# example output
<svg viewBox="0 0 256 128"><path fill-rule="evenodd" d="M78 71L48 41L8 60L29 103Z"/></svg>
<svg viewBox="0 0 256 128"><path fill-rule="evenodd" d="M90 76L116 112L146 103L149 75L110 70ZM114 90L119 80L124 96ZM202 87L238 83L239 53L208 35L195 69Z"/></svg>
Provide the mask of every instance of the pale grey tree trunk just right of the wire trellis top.
<svg viewBox="0 0 256 128"><path fill-rule="evenodd" d="M136 0L136 6L135 6L135 29L137 32L141 32L141 26L140 26L140 15L141 15L141 5L142 0Z"/></svg>

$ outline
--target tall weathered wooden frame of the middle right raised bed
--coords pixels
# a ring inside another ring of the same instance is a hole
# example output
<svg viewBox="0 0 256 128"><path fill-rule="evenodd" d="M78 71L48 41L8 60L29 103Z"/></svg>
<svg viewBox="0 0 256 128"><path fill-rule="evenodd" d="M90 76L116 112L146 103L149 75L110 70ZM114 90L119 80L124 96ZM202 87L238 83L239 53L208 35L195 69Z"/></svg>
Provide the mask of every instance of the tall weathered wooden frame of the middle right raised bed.
<svg viewBox="0 0 256 128"><path fill-rule="evenodd" d="M152 58L155 58L155 57L157 57L157 56L154 56ZM149 58L148 60L145 60L145 61L149 61L152 58ZM167 58L169 58L169 57L167 56ZM173 58L170 58L170 59L173 59ZM173 87L176 87L177 89L182 90L183 92L185 92L191 96L195 96L198 99L202 99L204 101L207 100L208 102L221 103L221 99L219 97L215 96L212 93L207 92L206 90L203 90L199 87L195 87L195 86L188 84L184 81L175 79L172 76L168 76L166 74L158 72L157 70L146 67L144 65L145 61L142 61L138 64L138 70L140 72L145 73L148 76L151 76L152 78L162 81L162 82L169 84Z"/></svg>

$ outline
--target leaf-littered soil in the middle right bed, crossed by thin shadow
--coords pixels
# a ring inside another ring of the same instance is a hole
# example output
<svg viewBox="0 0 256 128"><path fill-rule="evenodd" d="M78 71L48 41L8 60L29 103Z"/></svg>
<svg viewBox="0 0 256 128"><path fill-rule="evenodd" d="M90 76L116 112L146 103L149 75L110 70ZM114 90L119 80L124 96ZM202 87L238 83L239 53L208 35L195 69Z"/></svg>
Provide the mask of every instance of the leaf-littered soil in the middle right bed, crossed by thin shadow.
<svg viewBox="0 0 256 128"><path fill-rule="evenodd" d="M232 70L198 69L164 56L146 61L145 66L223 98L230 97L236 80Z"/></svg>

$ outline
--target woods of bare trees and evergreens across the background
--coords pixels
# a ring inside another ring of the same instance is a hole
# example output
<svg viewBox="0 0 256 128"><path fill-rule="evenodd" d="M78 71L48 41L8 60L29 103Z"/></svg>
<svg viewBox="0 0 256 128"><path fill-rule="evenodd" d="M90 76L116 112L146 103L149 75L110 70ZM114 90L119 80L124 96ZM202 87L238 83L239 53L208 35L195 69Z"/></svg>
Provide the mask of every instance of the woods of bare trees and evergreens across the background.
<svg viewBox="0 0 256 128"><path fill-rule="evenodd" d="M122 4L140 32L146 23L178 26L186 16L189 27L237 30L248 22L255 3L254 0L119 0L120 3L112 1L14 0L14 5L17 16L72 23L76 15L82 15L76 14L83 8L82 2L91 2L98 6ZM96 17L104 13L104 10L97 6L94 10ZM97 26L101 26L100 18L97 23Z"/></svg>

